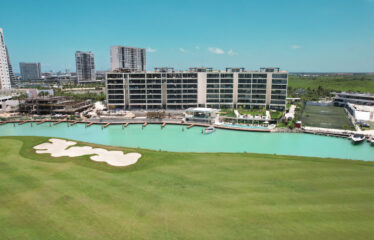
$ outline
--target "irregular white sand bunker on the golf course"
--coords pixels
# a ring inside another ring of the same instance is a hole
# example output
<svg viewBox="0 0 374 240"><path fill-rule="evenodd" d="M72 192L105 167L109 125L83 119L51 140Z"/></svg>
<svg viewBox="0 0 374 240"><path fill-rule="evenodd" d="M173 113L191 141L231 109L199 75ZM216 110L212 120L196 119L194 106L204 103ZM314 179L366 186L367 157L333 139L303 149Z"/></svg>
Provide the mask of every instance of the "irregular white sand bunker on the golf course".
<svg viewBox="0 0 374 240"><path fill-rule="evenodd" d="M50 143L42 143L35 146L34 149L36 149L36 153L50 153L52 157L79 157L94 154L94 156L90 157L92 161L106 162L116 167L125 167L134 164L142 156L139 153L123 154L122 151L108 151L102 148L92 148L89 146L70 147L77 143L56 138L51 138L49 141Z"/></svg>

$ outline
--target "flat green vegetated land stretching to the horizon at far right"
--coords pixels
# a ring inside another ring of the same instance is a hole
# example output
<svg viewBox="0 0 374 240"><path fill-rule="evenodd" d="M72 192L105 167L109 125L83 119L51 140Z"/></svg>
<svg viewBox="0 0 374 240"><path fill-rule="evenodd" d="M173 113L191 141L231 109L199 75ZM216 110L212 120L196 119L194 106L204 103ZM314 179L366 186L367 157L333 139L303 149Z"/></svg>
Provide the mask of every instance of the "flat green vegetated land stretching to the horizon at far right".
<svg viewBox="0 0 374 240"><path fill-rule="evenodd" d="M374 76L289 76L288 85L292 88L324 89L345 92L374 93Z"/></svg>

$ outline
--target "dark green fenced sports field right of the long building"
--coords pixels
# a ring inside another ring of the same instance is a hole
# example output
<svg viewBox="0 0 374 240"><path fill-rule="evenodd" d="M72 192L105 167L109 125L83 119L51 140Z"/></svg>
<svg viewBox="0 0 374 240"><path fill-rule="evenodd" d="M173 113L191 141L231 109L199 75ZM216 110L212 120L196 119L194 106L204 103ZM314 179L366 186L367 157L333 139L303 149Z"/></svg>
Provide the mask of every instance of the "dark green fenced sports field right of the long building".
<svg viewBox="0 0 374 240"><path fill-rule="evenodd" d="M342 107L306 105L301 121L304 126L354 130Z"/></svg>

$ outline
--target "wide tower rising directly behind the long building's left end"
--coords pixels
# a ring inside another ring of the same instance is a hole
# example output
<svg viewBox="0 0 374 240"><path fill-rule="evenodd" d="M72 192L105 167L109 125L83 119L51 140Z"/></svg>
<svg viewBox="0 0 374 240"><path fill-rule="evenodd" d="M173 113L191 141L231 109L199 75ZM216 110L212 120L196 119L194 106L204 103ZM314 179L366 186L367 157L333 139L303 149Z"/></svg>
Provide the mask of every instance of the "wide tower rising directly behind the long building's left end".
<svg viewBox="0 0 374 240"><path fill-rule="evenodd" d="M110 64L112 71L116 69L145 71L145 63L145 48L125 46L110 47Z"/></svg>

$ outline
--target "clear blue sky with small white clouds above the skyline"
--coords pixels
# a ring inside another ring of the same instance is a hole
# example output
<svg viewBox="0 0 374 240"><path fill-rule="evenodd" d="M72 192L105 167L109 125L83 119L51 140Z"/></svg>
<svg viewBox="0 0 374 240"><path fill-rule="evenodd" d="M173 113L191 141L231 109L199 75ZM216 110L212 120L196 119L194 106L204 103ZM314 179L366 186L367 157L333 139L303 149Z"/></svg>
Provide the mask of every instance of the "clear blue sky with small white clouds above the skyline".
<svg viewBox="0 0 374 240"><path fill-rule="evenodd" d="M75 71L77 50L106 70L111 45L147 48L149 70L374 72L374 0L0 0L0 27L16 72Z"/></svg>

